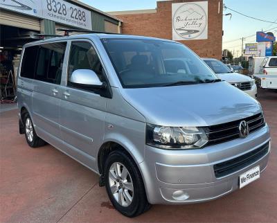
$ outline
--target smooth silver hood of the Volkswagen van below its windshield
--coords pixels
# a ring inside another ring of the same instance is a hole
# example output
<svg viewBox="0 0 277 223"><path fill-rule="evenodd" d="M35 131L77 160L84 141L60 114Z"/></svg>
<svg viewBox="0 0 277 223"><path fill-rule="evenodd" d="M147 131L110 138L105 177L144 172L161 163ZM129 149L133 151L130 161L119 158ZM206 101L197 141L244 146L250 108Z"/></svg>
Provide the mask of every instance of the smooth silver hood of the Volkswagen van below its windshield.
<svg viewBox="0 0 277 223"><path fill-rule="evenodd" d="M147 123L165 126L208 126L246 118L261 111L260 104L227 82L121 89Z"/></svg>

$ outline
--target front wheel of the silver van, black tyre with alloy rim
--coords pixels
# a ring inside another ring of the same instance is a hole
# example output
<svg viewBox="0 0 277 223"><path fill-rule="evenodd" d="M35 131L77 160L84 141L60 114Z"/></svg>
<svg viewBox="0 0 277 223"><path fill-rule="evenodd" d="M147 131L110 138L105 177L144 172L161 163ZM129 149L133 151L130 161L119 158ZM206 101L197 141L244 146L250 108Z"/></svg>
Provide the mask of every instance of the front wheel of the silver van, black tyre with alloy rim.
<svg viewBox="0 0 277 223"><path fill-rule="evenodd" d="M119 167L118 174L114 171L116 167ZM150 204L145 194L143 179L132 158L121 150L115 150L109 154L104 172L107 194L117 211L127 217L135 217L148 211ZM118 177L120 175L122 178ZM122 198L121 202L119 197Z"/></svg>

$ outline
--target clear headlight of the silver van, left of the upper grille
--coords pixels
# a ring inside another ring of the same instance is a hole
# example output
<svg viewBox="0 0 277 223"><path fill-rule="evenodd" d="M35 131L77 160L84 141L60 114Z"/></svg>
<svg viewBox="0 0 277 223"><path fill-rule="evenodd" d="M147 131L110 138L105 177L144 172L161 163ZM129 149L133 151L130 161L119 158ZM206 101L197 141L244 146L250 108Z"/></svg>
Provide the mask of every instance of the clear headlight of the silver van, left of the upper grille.
<svg viewBox="0 0 277 223"><path fill-rule="evenodd" d="M146 143L163 149L196 149L208 142L203 127L166 127L148 124Z"/></svg>

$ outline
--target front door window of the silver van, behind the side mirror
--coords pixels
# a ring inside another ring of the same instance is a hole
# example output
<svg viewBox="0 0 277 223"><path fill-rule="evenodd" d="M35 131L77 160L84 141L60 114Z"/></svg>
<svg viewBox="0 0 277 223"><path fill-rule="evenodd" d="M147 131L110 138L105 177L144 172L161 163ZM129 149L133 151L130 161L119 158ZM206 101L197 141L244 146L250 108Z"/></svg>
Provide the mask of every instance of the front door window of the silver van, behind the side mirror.
<svg viewBox="0 0 277 223"><path fill-rule="evenodd" d="M73 71L78 69L89 69L94 71L98 78L105 80L104 71L100 59L93 46L88 42L72 42L69 54L68 85L73 87L70 79Z"/></svg>

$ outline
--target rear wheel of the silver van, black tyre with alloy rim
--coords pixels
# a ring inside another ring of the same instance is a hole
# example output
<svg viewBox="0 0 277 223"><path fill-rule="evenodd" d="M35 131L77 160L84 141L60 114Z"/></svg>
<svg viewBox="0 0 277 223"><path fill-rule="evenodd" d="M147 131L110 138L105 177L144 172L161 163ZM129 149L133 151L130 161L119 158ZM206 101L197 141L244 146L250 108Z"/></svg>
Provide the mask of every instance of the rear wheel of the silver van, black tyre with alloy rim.
<svg viewBox="0 0 277 223"><path fill-rule="evenodd" d="M35 133L35 128L33 125L33 121L30 118L28 113L23 114L23 125L24 125L24 134L28 145L31 148L37 148L42 145L46 145L46 142L37 136Z"/></svg>

